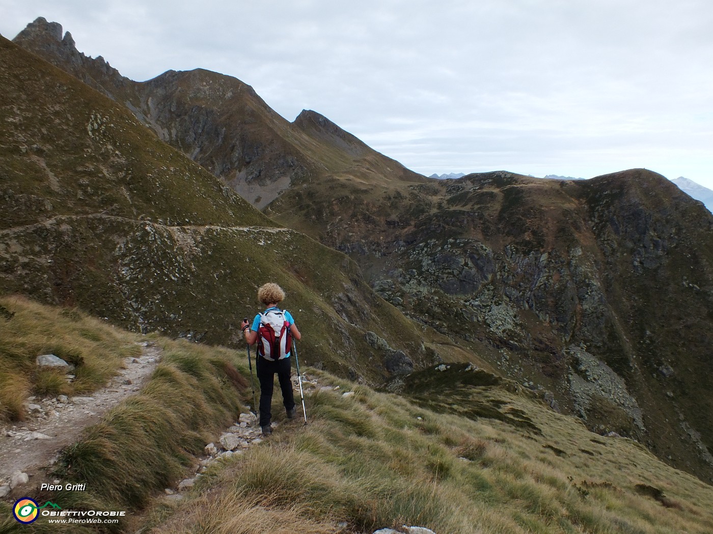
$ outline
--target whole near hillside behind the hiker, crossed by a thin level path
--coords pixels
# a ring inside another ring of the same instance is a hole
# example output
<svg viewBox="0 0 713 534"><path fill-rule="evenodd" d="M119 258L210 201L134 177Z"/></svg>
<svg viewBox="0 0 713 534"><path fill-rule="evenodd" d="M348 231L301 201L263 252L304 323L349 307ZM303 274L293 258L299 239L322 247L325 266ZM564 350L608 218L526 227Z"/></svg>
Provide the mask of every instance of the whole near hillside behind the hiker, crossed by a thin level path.
<svg viewBox="0 0 713 534"><path fill-rule="evenodd" d="M277 280L312 365L378 382L436 357L352 261L277 226L127 110L3 38L0 87L3 293L227 343L257 286Z"/></svg>

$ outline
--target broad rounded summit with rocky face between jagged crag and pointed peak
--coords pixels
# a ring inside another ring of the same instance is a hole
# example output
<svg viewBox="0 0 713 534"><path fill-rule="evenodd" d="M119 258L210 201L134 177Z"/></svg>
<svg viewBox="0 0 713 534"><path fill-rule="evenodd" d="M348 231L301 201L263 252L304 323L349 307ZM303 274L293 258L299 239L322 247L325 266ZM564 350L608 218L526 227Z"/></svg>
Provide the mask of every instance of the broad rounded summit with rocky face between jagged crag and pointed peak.
<svg viewBox="0 0 713 534"><path fill-rule="evenodd" d="M135 88L129 108L140 120L255 206L308 173L289 122L240 80L201 69L168 71Z"/></svg>

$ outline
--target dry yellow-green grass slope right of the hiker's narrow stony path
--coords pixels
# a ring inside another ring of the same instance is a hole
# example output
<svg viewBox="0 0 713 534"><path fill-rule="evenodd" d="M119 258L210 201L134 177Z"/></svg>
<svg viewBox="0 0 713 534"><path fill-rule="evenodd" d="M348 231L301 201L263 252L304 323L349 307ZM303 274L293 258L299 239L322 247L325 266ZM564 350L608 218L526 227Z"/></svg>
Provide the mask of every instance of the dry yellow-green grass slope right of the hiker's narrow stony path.
<svg viewBox="0 0 713 534"><path fill-rule="evenodd" d="M325 381L332 377L322 376ZM436 414L404 398L338 382L308 399L312 422L282 431L212 468L177 513L158 510L156 533L368 533L421 525L436 533L706 533L713 491L625 439L495 387L491 397L541 429ZM637 489L638 486L638 489ZM662 503L650 498L660 490ZM208 492L210 490L210 492ZM233 506L250 513L235 519ZM260 508L257 508L257 506ZM160 519L159 519L160 518ZM289 530L292 522L293 530Z"/></svg>

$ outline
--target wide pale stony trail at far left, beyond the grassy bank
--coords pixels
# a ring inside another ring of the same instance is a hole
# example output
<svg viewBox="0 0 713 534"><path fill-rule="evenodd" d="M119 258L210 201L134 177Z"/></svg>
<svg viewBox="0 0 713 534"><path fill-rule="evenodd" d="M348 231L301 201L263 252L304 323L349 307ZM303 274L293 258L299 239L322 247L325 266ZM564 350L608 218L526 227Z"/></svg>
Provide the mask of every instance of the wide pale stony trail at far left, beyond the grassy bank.
<svg viewBox="0 0 713 534"><path fill-rule="evenodd" d="M142 355L125 358L123 369L106 387L86 396L28 397L28 419L0 425L0 496L29 483L56 461L63 447L77 441L83 429L140 391L161 358L154 342L140 345Z"/></svg>

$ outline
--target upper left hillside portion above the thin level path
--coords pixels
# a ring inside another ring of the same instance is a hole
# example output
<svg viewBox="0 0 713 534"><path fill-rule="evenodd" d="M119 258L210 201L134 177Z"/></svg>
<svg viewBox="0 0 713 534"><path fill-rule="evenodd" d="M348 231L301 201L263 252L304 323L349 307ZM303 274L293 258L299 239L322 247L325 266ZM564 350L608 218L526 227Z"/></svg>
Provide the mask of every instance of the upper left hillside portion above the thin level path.
<svg viewBox="0 0 713 534"><path fill-rule="evenodd" d="M3 228L104 213L174 224L274 226L105 96L0 39ZM21 175L22 181L17 177Z"/></svg>

